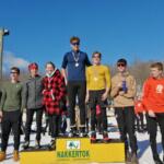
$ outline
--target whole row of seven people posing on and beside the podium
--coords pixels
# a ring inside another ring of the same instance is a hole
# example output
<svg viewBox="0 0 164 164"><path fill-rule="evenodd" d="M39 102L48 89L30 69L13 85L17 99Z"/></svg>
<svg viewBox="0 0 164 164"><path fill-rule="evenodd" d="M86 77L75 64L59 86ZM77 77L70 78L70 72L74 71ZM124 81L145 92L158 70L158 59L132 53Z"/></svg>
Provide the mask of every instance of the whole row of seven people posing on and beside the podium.
<svg viewBox="0 0 164 164"><path fill-rule="evenodd" d="M77 134L75 105L80 109L79 137L86 134L86 110L90 106L91 141L96 141L97 118L101 117L101 130L103 141L108 142L107 131L107 98L114 101L115 116L120 131L120 140L125 142L126 161L138 163L137 138L134 133L134 97L136 79L128 71L127 60L117 60L118 73L110 77L109 68L101 63L102 54L92 54L92 63L85 52L80 50L80 38L71 37L71 51L63 56L61 71L52 62L47 62L46 75L38 74L38 66L33 62L28 66L30 79L25 83L19 80L20 69L11 68L10 82L2 87L0 103L1 119L1 152L0 161L5 160L9 134L12 129L14 134L13 160L19 160L20 126L22 112L26 110L24 149L30 147L31 126L34 113L36 113L36 142L40 148L42 119L44 112L48 116L50 129L50 148L55 148L56 138L59 136L61 117L67 115L70 119L68 137ZM163 65L152 63L151 75L143 85L141 104L148 115L148 131L150 145L155 164L163 162L156 150L157 125L161 128L162 145L164 150L164 78ZM130 147L129 147L130 145ZM131 150L131 151L130 151Z"/></svg>

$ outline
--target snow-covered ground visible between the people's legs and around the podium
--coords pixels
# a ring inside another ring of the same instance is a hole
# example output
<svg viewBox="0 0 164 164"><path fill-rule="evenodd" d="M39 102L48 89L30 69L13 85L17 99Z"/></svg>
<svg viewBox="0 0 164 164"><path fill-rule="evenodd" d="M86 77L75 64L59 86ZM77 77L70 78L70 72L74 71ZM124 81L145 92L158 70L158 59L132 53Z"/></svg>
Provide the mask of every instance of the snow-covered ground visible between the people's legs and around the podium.
<svg viewBox="0 0 164 164"><path fill-rule="evenodd" d="M108 124L114 126L114 127L109 128L109 131L110 131L109 137L110 138L119 138L119 132L118 132L117 128L115 127L115 125L116 125L115 117L109 117ZM101 138L101 136L99 136L99 138ZM139 148L138 149L139 163L140 164L154 164L150 144L149 144L148 132L144 132L144 133L137 132L137 139L138 139L138 148ZM21 136L21 144L23 143L23 140L24 140L24 136ZM162 157L163 152L162 152L162 147L160 144L161 143L160 132L157 132L156 140L159 143L157 149L159 149L160 155ZM45 136L42 137L42 144L49 143L49 141L50 141L50 137L48 136L48 133L46 133ZM35 134L33 133L31 136L31 145L34 145L34 144L35 144ZM22 150L22 147L21 147L21 150ZM13 152L13 137L11 136L10 140L9 140L9 147L7 150L7 154L8 154L7 161L1 162L1 164L14 164L14 162L12 160L12 152ZM96 163L94 163L94 164L96 164Z"/></svg>

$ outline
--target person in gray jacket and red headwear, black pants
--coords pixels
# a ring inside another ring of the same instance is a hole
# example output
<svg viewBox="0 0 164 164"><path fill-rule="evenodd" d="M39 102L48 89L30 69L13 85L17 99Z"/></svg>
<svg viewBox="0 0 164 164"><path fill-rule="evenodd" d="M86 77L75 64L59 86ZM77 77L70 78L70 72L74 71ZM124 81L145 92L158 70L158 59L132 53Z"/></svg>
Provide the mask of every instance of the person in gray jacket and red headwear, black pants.
<svg viewBox="0 0 164 164"><path fill-rule="evenodd" d="M31 63L28 66L30 79L25 82L23 86L23 107L26 109L26 124L25 124L25 142L23 144L24 149L30 147L30 134L31 126L33 122L33 116L36 113L36 141L35 148L40 148L40 133L42 133L42 118L44 106L42 104L43 95L43 78L38 75L38 65Z"/></svg>

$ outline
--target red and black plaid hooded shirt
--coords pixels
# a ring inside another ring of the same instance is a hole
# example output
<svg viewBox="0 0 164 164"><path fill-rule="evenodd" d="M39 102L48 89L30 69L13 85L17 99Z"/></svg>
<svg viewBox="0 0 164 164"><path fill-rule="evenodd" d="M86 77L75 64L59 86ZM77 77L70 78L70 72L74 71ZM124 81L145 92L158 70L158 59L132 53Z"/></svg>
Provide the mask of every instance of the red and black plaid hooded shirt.
<svg viewBox="0 0 164 164"><path fill-rule="evenodd" d="M59 102L66 96L66 84L60 71L56 70L50 78L45 77L43 83L43 104L46 106L46 112L48 114L61 114Z"/></svg>

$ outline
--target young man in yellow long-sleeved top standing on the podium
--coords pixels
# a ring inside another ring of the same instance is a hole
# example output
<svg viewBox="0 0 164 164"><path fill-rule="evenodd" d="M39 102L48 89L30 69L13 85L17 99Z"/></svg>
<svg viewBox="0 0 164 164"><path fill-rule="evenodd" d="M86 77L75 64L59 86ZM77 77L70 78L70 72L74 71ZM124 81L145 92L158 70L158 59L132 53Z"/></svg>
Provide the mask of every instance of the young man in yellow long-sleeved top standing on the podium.
<svg viewBox="0 0 164 164"><path fill-rule="evenodd" d="M110 89L110 73L109 69L106 66L101 65L101 52L93 52L93 66L86 69L86 102L89 102L91 108L92 142L96 140L96 115L101 116L101 125L103 125L103 139L104 141L108 141L106 105ZM98 114L96 114L97 105L99 107Z"/></svg>

